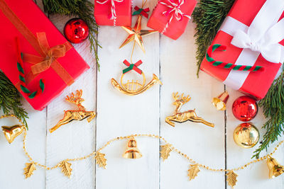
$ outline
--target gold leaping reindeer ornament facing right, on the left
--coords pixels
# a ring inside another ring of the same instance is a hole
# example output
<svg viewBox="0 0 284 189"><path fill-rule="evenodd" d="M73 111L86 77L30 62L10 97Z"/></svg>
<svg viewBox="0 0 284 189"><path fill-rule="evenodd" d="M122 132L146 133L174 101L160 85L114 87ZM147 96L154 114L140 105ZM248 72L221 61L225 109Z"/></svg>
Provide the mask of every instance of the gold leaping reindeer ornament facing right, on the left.
<svg viewBox="0 0 284 189"><path fill-rule="evenodd" d="M72 122L74 120L84 120L87 118L87 121L90 122L96 117L96 113L94 111L86 111L84 106L82 105L82 102L84 101L84 98L81 98L83 91L82 90L77 90L76 94L71 93L71 96L67 96L65 99L67 102L70 103L75 103L79 110L67 110L64 113L64 118L58 122L54 127L52 127L49 131L54 132L57 130L59 127L62 125L65 125L69 122Z"/></svg>

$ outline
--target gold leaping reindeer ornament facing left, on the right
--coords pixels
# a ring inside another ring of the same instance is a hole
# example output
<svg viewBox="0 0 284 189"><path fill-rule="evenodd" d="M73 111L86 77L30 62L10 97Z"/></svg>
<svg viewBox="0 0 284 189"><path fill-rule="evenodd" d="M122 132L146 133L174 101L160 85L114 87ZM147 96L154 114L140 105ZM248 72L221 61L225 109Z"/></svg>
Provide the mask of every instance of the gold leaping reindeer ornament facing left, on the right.
<svg viewBox="0 0 284 189"><path fill-rule="evenodd" d="M182 113L180 112L180 108L182 108L182 105L190 101L191 98L189 98L189 96L185 97L183 96L182 93L182 96L180 97L178 96L178 93L173 93L173 98L175 99L175 101L173 102L173 105L176 106L175 112L173 113L173 115L170 115L167 118L165 118L165 122L175 127L174 122L186 122L187 120L190 120L192 122L201 122L204 125L208 125L209 127L214 127L214 123L207 122L202 118L198 117L195 113L195 109L187 110Z"/></svg>

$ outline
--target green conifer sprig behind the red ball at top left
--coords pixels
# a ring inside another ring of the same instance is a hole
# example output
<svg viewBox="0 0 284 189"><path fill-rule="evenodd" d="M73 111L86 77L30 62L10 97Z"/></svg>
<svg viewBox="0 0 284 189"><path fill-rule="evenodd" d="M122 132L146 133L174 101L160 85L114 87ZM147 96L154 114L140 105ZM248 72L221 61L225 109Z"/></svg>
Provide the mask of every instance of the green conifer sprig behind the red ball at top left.
<svg viewBox="0 0 284 189"><path fill-rule="evenodd" d="M94 4L88 0L43 0L45 12L58 13L63 16L76 16L89 25L90 50L94 52L99 69L99 57L97 47L101 47L97 41L98 25L94 20Z"/></svg>

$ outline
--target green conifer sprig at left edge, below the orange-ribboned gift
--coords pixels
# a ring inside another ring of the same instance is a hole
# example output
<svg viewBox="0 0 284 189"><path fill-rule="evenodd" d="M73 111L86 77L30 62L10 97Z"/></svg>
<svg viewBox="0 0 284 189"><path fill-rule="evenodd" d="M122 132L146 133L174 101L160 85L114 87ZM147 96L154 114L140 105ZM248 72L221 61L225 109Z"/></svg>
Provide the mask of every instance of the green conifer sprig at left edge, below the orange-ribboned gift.
<svg viewBox="0 0 284 189"><path fill-rule="evenodd" d="M26 118L28 118L28 113L22 107L20 101L20 94L11 81L5 76L5 74L0 71L0 110L3 110L4 114L13 113L18 118L23 120L23 123L27 125Z"/></svg>

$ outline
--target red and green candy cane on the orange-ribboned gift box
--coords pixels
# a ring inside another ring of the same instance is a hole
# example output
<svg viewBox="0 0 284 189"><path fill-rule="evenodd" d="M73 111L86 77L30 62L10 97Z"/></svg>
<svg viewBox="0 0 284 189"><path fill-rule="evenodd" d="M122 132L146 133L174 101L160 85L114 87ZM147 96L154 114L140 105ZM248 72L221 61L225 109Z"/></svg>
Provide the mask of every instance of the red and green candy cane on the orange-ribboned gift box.
<svg viewBox="0 0 284 189"><path fill-rule="evenodd" d="M26 93L28 95L28 98L35 98L35 96L39 96L41 93L43 93L45 88L45 82L43 79L40 79L40 87L37 91L31 92L26 87L26 79L25 79L25 71L23 71L23 54L20 50L20 42L18 38L16 38L16 49L17 49L17 68L19 71L19 79L20 79L20 87L23 93Z"/></svg>

